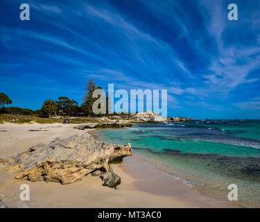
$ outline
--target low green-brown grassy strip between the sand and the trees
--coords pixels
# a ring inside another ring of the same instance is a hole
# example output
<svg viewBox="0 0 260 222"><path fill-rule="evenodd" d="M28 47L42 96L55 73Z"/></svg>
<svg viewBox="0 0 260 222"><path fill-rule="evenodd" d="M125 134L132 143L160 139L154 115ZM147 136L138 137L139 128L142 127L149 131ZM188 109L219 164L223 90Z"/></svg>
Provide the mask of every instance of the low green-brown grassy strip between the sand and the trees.
<svg viewBox="0 0 260 222"><path fill-rule="evenodd" d="M63 123L67 119L68 123L102 123L101 119L92 117L40 117L38 115L21 115L21 114L0 114L0 123Z"/></svg>

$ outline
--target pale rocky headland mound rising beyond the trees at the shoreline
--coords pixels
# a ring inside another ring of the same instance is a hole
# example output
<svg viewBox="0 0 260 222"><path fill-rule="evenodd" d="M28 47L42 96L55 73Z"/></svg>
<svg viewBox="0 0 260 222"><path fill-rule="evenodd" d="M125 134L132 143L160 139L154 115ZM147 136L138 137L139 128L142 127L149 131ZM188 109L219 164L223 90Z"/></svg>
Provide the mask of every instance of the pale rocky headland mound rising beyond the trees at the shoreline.
<svg viewBox="0 0 260 222"><path fill-rule="evenodd" d="M161 117L157 112L145 111L131 113L130 119L139 122L163 122L166 121L166 117Z"/></svg>

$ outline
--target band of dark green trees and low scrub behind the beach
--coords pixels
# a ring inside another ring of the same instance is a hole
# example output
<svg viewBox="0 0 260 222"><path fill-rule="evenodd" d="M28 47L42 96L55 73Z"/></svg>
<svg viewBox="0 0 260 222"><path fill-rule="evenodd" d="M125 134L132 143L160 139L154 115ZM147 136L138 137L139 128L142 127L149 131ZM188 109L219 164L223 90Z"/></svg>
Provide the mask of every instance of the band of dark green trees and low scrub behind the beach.
<svg viewBox="0 0 260 222"><path fill-rule="evenodd" d="M0 123L96 123L102 122L101 119L93 117L112 116L114 114L108 114L111 104L108 94L104 101L106 106L106 114L94 114L92 105L98 98L93 98L92 94L94 90L102 89L102 87L96 87L96 84L92 79L89 79L86 87L86 94L83 97L83 103L78 106L78 103L69 99L67 96L60 96L58 101L53 99L47 99L42 103L41 110L30 110L18 107L4 107L12 103L12 100L4 94L0 93ZM129 119L129 114L116 114L121 119ZM88 116L88 118L86 118ZM72 117L72 118L71 118Z"/></svg>

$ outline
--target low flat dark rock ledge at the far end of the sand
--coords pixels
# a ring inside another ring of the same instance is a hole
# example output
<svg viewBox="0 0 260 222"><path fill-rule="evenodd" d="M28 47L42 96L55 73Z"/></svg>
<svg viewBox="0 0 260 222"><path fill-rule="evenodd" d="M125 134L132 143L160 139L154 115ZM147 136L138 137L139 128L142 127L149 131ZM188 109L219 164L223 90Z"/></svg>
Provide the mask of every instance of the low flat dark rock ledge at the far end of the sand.
<svg viewBox="0 0 260 222"><path fill-rule="evenodd" d="M104 122L104 123L83 123L73 128L78 130L92 129L92 128L123 128L123 127L132 127L132 123L126 122Z"/></svg>

